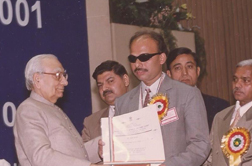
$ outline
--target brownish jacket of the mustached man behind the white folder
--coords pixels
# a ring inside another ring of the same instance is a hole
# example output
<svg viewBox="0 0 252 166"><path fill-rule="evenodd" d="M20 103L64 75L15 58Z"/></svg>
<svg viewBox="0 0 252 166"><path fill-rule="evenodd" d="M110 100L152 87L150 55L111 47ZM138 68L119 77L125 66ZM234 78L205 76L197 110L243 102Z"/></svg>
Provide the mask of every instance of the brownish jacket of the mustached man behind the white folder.
<svg viewBox="0 0 252 166"><path fill-rule="evenodd" d="M108 117L109 107L91 114L84 119L82 130L82 139L88 142L98 136L101 136L101 118Z"/></svg>

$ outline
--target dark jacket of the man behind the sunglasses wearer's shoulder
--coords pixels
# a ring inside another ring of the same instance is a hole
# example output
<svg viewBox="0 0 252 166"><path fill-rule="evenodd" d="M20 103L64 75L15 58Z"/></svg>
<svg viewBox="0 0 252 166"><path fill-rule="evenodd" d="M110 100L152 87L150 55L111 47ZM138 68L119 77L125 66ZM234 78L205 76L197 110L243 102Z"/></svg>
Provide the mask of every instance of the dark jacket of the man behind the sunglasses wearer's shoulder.
<svg viewBox="0 0 252 166"><path fill-rule="evenodd" d="M204 93L202 93L202 97L204 99L206 110L207 110L207 120L208 120L208 126L209 126L209 131L210 131L214 116L221 110L229 107L229 103L226 100L223 100L218 97L206 95Z"/></svg>

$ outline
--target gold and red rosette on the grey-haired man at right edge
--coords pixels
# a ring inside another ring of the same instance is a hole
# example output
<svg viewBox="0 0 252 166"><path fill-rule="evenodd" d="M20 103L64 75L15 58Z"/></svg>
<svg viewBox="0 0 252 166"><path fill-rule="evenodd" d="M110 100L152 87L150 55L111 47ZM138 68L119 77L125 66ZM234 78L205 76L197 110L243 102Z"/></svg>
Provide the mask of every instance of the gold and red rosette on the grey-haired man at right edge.
<svg viewBox="0 0 252 166"><path fill-rule="evenodd" d="M241 156L250 146L250 133L246 128L236 127L230 129L221 139L221 149L229 158L230 166L238 166Z"/></svg>

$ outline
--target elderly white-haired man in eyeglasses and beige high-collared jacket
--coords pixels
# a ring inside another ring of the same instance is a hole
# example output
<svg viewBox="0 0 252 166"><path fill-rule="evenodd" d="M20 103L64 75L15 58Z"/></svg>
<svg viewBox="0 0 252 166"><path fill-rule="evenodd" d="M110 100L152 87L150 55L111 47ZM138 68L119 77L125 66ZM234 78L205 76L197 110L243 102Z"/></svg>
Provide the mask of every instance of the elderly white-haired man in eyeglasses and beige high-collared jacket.
<svg viewBox="0 0 252 166"><path fill-rule="evenodd" d="M18 107L13 129L20 165L90 166L91 155L99 160L97 151L83 144L70 119L55 105L63 97L67 78L54 55L37 55L27 63L25 80L31 94Z"/></svg>

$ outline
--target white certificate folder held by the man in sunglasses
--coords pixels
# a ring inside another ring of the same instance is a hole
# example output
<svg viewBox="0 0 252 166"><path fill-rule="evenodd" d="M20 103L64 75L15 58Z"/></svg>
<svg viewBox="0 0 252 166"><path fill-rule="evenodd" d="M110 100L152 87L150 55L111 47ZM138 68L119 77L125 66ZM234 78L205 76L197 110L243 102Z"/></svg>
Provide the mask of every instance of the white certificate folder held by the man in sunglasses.
<svg viewBox="0 0 252 166"><path fill-rule="evenodd" d="M131 113L102 118L104 164L160 164L165 160L155 104Z"/></svg>

